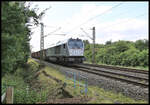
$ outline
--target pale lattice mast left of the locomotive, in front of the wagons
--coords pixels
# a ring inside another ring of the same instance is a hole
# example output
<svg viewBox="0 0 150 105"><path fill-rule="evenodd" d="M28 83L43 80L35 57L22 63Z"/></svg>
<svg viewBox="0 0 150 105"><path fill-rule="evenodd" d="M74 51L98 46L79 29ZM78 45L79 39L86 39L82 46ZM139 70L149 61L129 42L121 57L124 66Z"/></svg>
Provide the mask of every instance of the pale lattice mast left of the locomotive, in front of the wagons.
<svg viewBox="0 0 150 105"><path fill-rule="evenodd" d="M43 23L41 24L41 38L40 38L40 63L41 60L43 59L43 51L44 51L44 25Z"/></svg>

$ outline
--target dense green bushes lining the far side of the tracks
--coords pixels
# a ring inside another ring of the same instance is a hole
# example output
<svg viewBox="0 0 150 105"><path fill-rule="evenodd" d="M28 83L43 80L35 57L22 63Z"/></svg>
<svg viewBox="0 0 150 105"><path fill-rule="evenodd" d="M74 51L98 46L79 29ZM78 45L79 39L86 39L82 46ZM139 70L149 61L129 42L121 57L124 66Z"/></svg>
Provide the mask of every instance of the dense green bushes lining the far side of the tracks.
<svg viewBox="0 0 150 105"><path fill-rule="evenodd" d="M92 59L92 44L86 44L84 56ZM148 66L148 40L136 42L119 40L96 44L96 63L120 66Z"/></svg>

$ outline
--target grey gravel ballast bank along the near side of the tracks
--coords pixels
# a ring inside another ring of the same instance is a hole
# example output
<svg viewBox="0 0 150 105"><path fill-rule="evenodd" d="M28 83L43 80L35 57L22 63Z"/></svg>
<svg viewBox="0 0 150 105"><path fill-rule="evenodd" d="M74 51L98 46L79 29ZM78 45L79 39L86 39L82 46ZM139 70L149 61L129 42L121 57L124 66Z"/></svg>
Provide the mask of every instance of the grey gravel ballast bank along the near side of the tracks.
<svg viewBox="0 0 150 105"><path fill-rule="evenodd" d="M142 88L140 86L136 86L133 84L120 82L103 76L98 76L83 71L71 69L68 67L62 67L59 65L47 63L47 62L45 62L45 64L59 70L63 74L65 74L66 71L76 72L77 74L80 73L88 78L88 85L96 85L99 86L100 88L104 88L105 90L111 90L117 93L121 92L123 95L131 97L135 100L140 100L140 99L147 100L147 101L149 100L148 88Z"/></svg>

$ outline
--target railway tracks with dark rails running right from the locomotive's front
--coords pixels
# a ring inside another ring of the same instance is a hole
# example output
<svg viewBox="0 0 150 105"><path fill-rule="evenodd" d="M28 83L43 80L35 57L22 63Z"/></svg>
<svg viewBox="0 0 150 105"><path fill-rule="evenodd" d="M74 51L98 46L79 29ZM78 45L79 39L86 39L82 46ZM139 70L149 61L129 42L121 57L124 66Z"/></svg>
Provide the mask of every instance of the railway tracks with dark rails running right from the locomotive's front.
<svg viewBox="0 0 150 105"><path fill-rule="evenodd" d="M115 68L112 67L111 69L107 66L98 66L98 65L92 65L92 64L78 64L78 65L73 65L71 68L76 69L76 70L81 70L85 71L88 73L116 79L119 81L124 81L130 84L135 84L138 86L142 87L148 87L148 73L145 73L144 71L139 72L134 71L132 72L130 69L125 69L123 68ZM143 73L144 72L144 73Z"/></svg>

